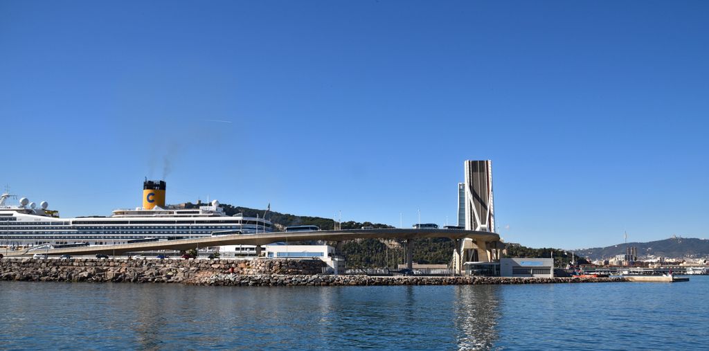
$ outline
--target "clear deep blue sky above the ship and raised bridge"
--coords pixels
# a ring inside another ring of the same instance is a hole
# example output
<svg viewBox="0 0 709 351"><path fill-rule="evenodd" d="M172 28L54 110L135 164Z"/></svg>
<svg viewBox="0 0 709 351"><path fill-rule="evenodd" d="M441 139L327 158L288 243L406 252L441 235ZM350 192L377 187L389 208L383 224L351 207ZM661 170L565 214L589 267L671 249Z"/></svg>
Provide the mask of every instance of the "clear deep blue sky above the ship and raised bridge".
<svg viewBox="0 0 709 351"><path fill-rule="evenodd" d="M170 203L443 225L463 161L490 159L506 241L707 238L706 13L1 1L0 184L62 216L140 206L164 177Z"/></svg>

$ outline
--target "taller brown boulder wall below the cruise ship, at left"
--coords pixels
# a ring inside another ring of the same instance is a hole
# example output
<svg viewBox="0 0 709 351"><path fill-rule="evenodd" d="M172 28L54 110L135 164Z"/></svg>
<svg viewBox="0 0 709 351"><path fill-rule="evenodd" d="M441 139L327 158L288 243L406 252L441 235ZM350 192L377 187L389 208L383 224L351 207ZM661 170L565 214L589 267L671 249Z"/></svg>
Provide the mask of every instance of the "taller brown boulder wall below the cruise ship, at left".
<svg viewBox="0 0 709 351"><path fill-rule="evenodd" d="M128 260L128 259L0 259L0 280L35 282L156 282L201 284L220 274L315 275L323 272L320 260Z"/></svg>

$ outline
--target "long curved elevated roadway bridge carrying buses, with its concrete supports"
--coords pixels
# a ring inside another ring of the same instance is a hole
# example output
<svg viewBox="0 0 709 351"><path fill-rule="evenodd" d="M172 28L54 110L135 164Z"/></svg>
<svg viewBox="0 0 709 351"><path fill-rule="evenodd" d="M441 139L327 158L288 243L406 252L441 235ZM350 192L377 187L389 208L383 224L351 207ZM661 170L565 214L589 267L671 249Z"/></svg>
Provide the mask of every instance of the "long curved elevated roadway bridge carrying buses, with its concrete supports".
<svg viewBox="0 0 709 351"><path fill-rule="evenodd" d="M151 241L121 245L96 245L83 247L65 247L48 250L9 252L9 256L31 256L35 253L47 255L121 255L126 252L153 250L191 250L198 247L221 245L267 245L279 242L300 242L326 240L340 242L354 239L403 239L407 240L406 257L410 265L413 252L413 240L418 238L449 238L454 240L456 250L452 264L460 269L462 263L476 260L489 262L499 258L504 245L500 235L476 230L450 229L352 229L318 230L311 232L276 232L262 234L230 234L204 238L182 240Z"/></svg>

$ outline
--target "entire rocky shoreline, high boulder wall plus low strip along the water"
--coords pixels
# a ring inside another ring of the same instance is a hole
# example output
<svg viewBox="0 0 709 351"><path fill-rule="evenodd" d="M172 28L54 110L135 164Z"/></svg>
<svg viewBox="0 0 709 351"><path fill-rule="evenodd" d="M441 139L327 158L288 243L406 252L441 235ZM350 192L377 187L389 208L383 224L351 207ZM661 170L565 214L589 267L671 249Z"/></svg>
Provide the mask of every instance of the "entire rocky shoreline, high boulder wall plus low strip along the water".
<svg viewBox="0 0 709 351"><path fill-rule="evenodd" d="M202 286L401 286L572 284L623 278L510 278L322 274L320 260L0 259L0 281L130 282Z"/></svg>

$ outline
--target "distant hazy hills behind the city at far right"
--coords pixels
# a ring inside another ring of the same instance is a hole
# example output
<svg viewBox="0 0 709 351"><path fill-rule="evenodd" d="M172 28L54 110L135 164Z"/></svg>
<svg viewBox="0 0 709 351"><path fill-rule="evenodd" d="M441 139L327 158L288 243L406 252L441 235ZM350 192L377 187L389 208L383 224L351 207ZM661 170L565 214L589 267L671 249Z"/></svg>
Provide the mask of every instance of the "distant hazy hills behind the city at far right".
<svg viewBox="0 0 709 351"><path fill-rule="evenodd" d="M591 260L601 260L625 254L626 247L637 247L637 257L655 256L669 258L709 257L709 240L672 237L649 243L627 243L591 249L572 250L576 255Z"/></svg>

